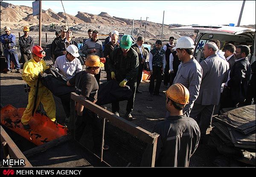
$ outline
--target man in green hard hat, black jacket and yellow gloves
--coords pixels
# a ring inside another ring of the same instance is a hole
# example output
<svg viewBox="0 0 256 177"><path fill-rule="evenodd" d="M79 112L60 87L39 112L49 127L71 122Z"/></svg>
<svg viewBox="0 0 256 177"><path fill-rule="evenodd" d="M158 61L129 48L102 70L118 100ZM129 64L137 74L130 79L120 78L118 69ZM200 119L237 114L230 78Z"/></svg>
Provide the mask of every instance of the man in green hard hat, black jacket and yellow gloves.
<svg viewBox="0 0 256 177"><path fill-rule="evenodd" d="M124 35L120 42L120 47L113 50L109 57L108 67L111 71L111 78L119 82L120 87L128 85L133 92L133 96L128 100L125 118L133 120L131 112L134 108L135 90L137 85L137 74L139 58L136 51L131 48L132 39L130 35ZM118 115L119 102L112 103L112 112Z"/></svg>

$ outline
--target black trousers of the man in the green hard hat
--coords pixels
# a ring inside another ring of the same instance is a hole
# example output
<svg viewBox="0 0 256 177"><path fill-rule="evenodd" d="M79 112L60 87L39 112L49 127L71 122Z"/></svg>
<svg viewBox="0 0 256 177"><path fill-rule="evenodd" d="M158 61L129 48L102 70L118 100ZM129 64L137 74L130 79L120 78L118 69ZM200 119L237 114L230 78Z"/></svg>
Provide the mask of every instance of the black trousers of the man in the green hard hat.
<svg viewBox="0 0 256 177"><path fill-rule="evenodd" d="M134 81L128 81L127 84L131 91L132 91L132 96L131 98L128 100L127 105L126 105L126 112L132 112L133 108L134 108L134 100L135 100L135 94L136 94L136 86L137 86L137 82ZM119 112L119 101L117 102L113 102L112 103L112 112Z"/></svg>

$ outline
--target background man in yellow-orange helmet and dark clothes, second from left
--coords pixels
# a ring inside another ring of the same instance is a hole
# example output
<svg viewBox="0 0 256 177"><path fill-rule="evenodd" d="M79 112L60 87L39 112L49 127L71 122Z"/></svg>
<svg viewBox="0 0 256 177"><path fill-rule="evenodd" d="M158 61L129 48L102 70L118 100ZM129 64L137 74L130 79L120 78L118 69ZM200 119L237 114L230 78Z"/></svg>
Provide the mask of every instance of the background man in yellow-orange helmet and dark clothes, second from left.
<svg viewBox="0 0 256 177"><path fill-rule="evenodd" d="M29 36L29 27L23 27L24 35L19 38L21 62L24 64L32 58L32 47L34 46L34 39Z"/></svg>

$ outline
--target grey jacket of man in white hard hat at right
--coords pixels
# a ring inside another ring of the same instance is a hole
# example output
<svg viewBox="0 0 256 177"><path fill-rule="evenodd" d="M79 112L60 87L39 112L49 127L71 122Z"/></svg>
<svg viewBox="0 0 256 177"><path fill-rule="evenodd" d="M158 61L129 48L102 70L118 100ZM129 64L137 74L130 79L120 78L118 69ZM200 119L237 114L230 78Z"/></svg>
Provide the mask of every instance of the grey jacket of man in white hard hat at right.
<svg viewBox="0 0 256 177"><path fill-rule="evenodd" d="M183 109L186 116L189 116L198 97L202 75L202 67L194 57L189 62L181 62L179 65L173 84L183 84L189 90L189 104Z"/></svg>

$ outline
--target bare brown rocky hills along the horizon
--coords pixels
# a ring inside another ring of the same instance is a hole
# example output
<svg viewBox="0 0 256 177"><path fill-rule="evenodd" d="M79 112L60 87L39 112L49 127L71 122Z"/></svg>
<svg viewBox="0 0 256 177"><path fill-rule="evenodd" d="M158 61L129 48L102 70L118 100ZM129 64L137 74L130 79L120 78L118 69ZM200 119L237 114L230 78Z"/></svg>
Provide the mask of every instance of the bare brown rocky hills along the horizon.
<svg viewBox="0 0 256 177"><path fill-rule="evenodd" d="M32 7L15 6L10 3L1 2L1 29L5 25L10 26L12 29L21 29L24 25L32 26L33 30L38 29L39 16L33 16ZM142 21L140 29L140 20L134 20L134 31L132 31L133 20L111 17L106 12L101 12L99 15L89 14L79 11L76 16L67 14L67 22L70 28L76 33L86 33L89 28L97 29L100 34L108 34L110 31L117 30L121 33L139 36L145 34L145 20ZM42 24L43 31L55 31L61 25L67 24L64 12L55 13L52 9L42 10ZM56 29L50 29L50 24L55 24ZM163 38L169 39L170 36L175 38L180 35L189 35L189 33L180 34L178 32L171 32L170 28L180 27L183 25L172 24L164 25ZM255 28L255 25L248 27ZM162 24L147 22L146 38L159 39L161 37Z"/></svg>

